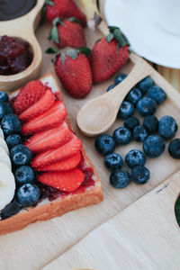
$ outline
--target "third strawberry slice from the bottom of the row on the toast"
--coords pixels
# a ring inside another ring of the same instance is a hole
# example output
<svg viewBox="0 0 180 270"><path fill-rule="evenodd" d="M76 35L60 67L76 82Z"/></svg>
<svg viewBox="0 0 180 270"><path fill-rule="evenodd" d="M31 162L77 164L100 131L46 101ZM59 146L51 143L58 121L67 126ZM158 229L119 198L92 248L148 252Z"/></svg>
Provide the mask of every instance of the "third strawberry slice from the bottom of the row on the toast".
<svg viewBox="0 0 180 270"><path fill-rule="evenodd" d="M32 159L31 166L36 168L56 163L60 160L66 159L67 157L74 156L81 148L82 142L74 134L73 138L70 139L64 146L38 154Z"/></svg>

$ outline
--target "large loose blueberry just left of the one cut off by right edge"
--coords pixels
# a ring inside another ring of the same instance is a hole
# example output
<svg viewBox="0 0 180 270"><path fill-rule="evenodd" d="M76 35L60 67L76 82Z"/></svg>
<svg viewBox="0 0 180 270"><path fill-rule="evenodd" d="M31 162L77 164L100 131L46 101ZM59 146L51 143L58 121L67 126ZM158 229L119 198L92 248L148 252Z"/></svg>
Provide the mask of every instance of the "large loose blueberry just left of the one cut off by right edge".
<svg viewBox="0 0 180 270"><path fill-rule="evenodd" d="M143 149L148 157L159 157L165 151L165 142L158 135L150 135L144 140Z"/></svg>

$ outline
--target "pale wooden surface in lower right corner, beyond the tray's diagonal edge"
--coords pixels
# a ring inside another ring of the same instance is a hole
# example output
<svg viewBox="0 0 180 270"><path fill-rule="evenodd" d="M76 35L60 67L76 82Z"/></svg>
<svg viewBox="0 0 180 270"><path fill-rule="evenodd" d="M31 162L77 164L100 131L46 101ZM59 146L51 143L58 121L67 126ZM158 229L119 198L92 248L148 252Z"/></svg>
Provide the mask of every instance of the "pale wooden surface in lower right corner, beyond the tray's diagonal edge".
<svg viewBox="0 0 180 270"><path fill-rule="evenodd" d="M178 270L180 229L174 204L179 178L180 171L42 269Z"/></svg>

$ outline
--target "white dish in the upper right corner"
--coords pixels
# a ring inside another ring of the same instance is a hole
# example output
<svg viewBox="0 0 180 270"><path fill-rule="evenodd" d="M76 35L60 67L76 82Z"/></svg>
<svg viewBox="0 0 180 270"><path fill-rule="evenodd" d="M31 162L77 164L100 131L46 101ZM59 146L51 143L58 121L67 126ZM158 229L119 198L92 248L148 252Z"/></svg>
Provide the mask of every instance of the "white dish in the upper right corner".
<svg viewBox="0 0 180 270"><path fill-rule="evenodd" d="M157 0L105 0L104 14L108 25L119 26L126 34L130 49L158 65L180 68L180 31L175 28L175 13L168 10L166 20L174 22L170 31L170 24L160 14L162 10L167 14L163 2L160 3L161 9Z"/></svg>

